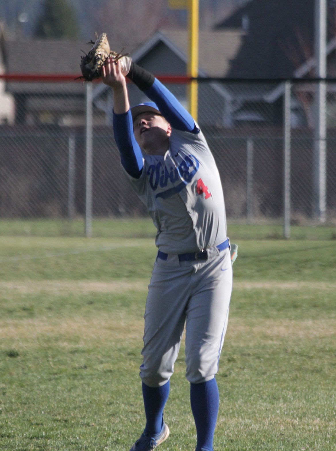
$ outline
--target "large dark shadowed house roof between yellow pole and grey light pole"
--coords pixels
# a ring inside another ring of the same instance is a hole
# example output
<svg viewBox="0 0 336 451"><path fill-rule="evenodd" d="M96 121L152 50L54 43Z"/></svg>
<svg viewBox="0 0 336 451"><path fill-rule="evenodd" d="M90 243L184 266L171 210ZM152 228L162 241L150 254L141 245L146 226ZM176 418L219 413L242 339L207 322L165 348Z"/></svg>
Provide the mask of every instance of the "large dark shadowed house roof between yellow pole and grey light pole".
<svg viewBox="0 0 336 451"><path fill-rule="evenodd" d="M251 0L216 25L246 35L228 76L291 77L312 54L315 0Z"/></svg>

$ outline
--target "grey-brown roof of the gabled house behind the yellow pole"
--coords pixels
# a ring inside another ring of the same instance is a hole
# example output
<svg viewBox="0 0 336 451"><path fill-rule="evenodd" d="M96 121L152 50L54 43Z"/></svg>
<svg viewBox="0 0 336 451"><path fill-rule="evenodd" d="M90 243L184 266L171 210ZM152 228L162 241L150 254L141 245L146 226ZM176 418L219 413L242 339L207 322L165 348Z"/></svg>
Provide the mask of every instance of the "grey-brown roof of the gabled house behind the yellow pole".
<svg viewBox="0 0 336 451"><path fill-rule="evenodd" d="M240 49L243 30L200 31L199 32L199 74L208 77L225 77L230 61ZM159 42L163 42L176 55L188 61L188 32L181 29L162 29L133 52L134 61L140 60Z"/></svg>

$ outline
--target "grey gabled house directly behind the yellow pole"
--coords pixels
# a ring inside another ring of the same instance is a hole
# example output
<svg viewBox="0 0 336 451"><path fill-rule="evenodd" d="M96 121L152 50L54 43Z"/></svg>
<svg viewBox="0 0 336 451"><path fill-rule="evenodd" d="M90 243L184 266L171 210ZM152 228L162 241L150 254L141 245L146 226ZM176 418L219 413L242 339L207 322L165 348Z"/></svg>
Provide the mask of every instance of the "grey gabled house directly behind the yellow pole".
<svg viewBox="0 0 336 451"><path fill-rule="evenodd" d="M238 31L201 31L199 33L199 76L225 77L230 60L235 57L241 46L244 32ZM188 33L185 30L160 30L145 41L132 54L134 62L156 76L186 75L188 61ZM187 86L185 84L166 83L167 87L182 103L187 106ZM94 97L109 91L105 86L94 90ZM147 100L147 97L132 84L129 85L131 105ZM222 83L199 83L198 121L202 125L230 126L231 98ZM97 103L98 104L98 103ZM104 104L99 103L104 109ZM111 114L109 102L106 101L106 114Z"/></svg>

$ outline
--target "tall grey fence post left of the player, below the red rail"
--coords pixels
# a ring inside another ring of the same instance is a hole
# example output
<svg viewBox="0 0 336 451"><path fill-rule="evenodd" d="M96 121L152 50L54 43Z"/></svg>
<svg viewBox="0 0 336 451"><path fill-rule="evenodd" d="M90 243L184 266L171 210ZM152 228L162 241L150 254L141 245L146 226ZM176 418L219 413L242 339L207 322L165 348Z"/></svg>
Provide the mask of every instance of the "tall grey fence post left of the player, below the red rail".
<svg viewBox="0 0 336 451"><path fill-rule="evenodd" d="M92 236L92 83L86 84L85 236Z"/></svg>

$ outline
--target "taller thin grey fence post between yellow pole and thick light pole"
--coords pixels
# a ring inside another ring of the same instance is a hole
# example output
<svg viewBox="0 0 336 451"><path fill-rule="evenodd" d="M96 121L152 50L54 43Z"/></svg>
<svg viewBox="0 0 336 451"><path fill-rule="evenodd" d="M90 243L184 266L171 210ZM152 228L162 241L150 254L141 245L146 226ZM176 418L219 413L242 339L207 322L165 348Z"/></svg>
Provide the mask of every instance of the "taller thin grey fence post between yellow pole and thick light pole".
<svg viewBox="0 0 336 451"><path fill-rule="evenodd" d="M291 83L284 91L284 238L290 238L290 94Z"/></svg>

